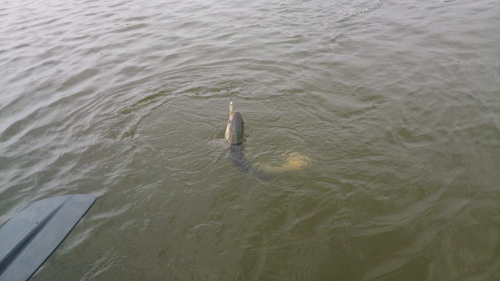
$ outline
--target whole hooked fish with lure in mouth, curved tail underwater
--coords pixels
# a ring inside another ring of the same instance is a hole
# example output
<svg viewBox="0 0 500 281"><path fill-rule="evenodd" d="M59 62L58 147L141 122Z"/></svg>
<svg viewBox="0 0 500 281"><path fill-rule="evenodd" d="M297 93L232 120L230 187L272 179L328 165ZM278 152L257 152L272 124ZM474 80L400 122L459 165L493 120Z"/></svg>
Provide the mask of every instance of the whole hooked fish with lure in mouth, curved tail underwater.
<svg viewBox="0 0 500 281"><path fill-rule="evenodd" d="M239 111L232 111L232 102L229 103L229 120L225 129L224 139L227 143L227 155L234 165L243 172L251 172L260 179L270 179L280 176L286 171L302 169L309 163L309 159L298 153L292 153L280 166L255 166L244 155L244 122Z"/></svg>

